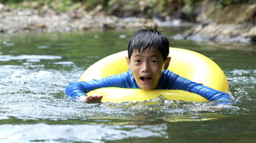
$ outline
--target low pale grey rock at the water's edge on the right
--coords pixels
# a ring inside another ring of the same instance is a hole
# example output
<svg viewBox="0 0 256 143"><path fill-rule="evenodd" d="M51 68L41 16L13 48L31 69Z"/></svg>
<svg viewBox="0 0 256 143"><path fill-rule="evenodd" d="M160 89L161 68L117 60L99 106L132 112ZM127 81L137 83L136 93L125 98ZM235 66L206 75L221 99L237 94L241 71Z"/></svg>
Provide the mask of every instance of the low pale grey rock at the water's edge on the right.
<svg viewBox="0 0 256 143"><path fill-rule="evenodd" d="M208 20L211 21L211 20ZM211 21L207 25L197 25L192 29L170 36L170 39L193 41L254 43L256 28L250 23L218 25Z"/></svg>

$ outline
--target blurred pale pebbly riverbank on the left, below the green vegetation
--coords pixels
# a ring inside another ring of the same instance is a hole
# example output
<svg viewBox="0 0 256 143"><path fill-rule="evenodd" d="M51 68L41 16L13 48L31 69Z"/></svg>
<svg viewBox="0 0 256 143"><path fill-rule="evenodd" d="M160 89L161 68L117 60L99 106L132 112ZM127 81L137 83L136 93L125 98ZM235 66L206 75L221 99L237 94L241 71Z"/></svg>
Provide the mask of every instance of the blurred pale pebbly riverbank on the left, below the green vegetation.
<svg viewBox="0 0 256 143"><path fill-rule="evenodd" d="M0 4L0 32L63 32L63 31L104 31L107 29L131 29L146 26L191 26L186 20L143 18L131 15L118 17L103 10L98 4L94 9L85 6L68 11L51 9L48 5L31 9L9 9Z"/></svg>

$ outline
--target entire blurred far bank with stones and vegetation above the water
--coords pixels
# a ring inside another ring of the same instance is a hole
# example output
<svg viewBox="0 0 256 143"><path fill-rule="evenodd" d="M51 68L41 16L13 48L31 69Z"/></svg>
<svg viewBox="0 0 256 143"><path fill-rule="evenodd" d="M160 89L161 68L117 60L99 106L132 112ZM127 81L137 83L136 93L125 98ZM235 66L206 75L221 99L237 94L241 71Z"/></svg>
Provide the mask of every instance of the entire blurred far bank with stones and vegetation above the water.
<svg viewBox="0 0 256 143"><path fill-rule="evenodd" d="M0 31L194 26L170 39L255 42L255 0L0 0Z"/></svg>

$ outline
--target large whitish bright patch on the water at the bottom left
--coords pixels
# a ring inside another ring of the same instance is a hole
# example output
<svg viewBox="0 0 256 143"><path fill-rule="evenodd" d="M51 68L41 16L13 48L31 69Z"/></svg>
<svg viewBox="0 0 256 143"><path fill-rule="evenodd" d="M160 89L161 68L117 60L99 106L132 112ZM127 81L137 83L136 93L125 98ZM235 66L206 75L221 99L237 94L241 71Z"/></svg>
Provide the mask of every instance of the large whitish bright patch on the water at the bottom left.
<svg viewBox="0 0 256 143"><path fill-rule="evenodd" d="M54 120L54 119L52 119ZM56 120L56 119L55 119ZM57 119L58 121L58 119ZM77 142L104 143L104 140L124 140L129 138L160 137L167 138L167 125L48 125L44 123L26 125L1 125L4 131L1 142L28 142L29 140L47 140L70 138ZM86 128L86 131L84 131ZM127 130L127 128L129 130ZM24 134L26 136L24 136ZM94 134L94 136L91 136Z"/></svg>

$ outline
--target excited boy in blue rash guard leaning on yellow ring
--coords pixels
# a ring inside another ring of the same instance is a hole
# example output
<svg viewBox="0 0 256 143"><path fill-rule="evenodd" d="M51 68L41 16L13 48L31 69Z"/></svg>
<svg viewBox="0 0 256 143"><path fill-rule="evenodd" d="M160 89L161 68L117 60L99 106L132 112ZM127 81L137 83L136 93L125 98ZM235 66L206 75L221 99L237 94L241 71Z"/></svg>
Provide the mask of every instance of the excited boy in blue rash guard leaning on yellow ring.
<svg viewBox="0 0 256 143"><path fill-rule="evenodd" d="M87 96L85 92L106 87L125 87L149 89L182 89L201 95L208 100L226 101L230 97L220 91L167 70L171 57L169 40L158 31L146 27L134 33L128 44L126 56L128 71L118 75L93 79L86 82L74 82L66 87L66 94L82 102L101 102L102 95Z"/></svg>

